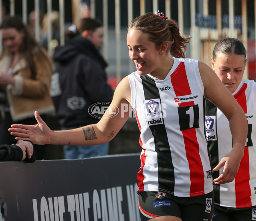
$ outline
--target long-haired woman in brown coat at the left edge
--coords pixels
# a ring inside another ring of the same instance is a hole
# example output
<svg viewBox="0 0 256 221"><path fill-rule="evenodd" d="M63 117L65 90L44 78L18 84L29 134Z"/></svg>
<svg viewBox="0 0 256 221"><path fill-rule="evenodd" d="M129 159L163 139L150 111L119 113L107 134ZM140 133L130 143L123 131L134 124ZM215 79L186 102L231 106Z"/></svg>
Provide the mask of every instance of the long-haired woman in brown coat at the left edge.
<svg viewBox="0 0 256 221"><path fill-rule="evenodd" d="M0 143L15 143L8 128L13 123L35 122L34 111L54 111L50 96L52 61L46 50L31 36L20 17L5 17L1 26L3 51L0 55L2 127ZM6 99L4 99L6 98ZM37 160L44 148L34 146Z"/></svg>

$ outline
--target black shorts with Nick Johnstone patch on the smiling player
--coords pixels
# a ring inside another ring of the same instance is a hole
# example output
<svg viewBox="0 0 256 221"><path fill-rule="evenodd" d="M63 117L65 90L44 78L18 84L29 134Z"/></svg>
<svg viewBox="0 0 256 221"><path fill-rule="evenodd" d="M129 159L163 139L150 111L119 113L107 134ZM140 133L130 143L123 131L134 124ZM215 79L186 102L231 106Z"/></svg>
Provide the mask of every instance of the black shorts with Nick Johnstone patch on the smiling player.
<svg viewBox="0 0 256 221"><path fill-rule="evenodd" d="M182 221L211 221L214 209L213 191L194 197L177 197L154 191L138 191L140 218L147 221L172 215Z"/></svg>

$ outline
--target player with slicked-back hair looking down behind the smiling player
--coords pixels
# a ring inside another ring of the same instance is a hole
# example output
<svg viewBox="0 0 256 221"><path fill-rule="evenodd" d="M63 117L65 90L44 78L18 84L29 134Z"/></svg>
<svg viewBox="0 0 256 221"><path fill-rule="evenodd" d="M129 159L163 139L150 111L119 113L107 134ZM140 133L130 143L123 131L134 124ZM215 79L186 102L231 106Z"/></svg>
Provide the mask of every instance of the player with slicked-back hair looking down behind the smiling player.
<svg viewBox="0 0 256 221"><path fill-rule="evenodd" d="M248 134L238 173L231 183L214 184L213 221L256 220L256 82L242 79L246 65L244 45L236 38L224 38L212 52L212 69L241 105L247 117ZM233 148L229 123L209 100L206 102L206 137L212 166ZM213 171L213 178L222 172Z"/></svg>

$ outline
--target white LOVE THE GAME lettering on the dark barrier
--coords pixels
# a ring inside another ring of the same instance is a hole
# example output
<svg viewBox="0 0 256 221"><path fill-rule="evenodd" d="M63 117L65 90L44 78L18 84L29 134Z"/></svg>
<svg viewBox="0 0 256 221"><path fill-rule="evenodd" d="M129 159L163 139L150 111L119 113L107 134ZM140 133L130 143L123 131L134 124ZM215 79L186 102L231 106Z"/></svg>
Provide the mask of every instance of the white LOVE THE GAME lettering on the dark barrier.
<svg viewBox="0 0 256 221"><path fill-rule="evenodd" d="M127 205L130 221L139 221L137 184L127 185ZM67 195L67 211L69 212L70 221L89 221L89 211L93 210L93 220L97 221L124 221L125 214L122 212L123 192L122 186L116 186L108 189L101 189L100 195L96 189L93 190L92 204L90 208L89 193L79 193ZM37 199L32 200L34 221L64 221L65 204L64 196L47 199L43 196L40 205ZM40 208L40 211L38 209Z"/></svg>

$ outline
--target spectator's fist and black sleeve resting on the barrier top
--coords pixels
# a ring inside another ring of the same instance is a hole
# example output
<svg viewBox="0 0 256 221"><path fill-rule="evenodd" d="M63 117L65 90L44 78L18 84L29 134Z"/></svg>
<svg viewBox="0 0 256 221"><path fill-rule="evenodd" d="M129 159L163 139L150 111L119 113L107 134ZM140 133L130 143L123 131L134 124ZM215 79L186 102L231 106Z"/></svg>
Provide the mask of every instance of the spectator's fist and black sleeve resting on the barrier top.
<svg viewBox="0 0 256 221"><path fill-rule="evenodd" d="M26 161L35 162L35 151L30 141L18 140L14 145L0 145L0 161Z"/></svg>

